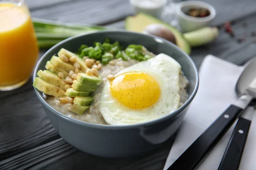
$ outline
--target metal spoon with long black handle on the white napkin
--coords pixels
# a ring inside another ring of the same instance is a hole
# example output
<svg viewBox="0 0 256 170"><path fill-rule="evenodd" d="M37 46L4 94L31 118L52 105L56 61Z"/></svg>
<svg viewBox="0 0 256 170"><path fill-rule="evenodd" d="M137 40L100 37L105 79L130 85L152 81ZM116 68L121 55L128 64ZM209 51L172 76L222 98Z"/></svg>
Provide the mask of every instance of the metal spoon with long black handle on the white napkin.
<svg viewBox="0 0 256 170"><path fill-rule="evenodd" d="M253 98L256 98L256 84L248 87L256 77L256 58L248 61L244 67L244 71L236 83L236 94L239 99L236 103L231 104L168 170L193 170L236 121L241 111L247 107Z"/></svg>

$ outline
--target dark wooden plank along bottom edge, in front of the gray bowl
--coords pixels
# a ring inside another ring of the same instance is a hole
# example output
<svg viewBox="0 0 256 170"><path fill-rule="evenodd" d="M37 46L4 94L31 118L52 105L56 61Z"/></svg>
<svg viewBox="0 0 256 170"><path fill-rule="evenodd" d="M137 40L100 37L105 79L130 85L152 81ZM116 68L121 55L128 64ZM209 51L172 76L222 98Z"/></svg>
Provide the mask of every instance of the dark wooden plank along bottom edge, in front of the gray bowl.
<svg viewBox="0 0 256 170"><path fill-rule="evenodd" d="M81 152L60 138L1 161L0 169L161 170L173 140L139 156L114 159Z"/></svg>

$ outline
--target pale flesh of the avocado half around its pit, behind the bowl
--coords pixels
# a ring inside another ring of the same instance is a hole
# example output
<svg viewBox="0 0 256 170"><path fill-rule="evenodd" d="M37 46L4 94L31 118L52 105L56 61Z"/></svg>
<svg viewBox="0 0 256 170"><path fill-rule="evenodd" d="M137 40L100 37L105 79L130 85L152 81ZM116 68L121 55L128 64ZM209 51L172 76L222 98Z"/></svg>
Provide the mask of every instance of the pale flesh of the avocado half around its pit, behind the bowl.
<svg viewBox="0 0 256 170"><path fill-rule="evenodd" d="M169 28L175 36L177 46L187 54L190 54L191 47L189 43L186 42L186 40L183 38L182 33L173 26L170 26L168 23L165 23L155 17L152 17L151 15L144 13L139 13L135 16L127 17L125 19L125 29L128 31L143 32L146 26L150 24L162 24L163 26Z"/></svg>

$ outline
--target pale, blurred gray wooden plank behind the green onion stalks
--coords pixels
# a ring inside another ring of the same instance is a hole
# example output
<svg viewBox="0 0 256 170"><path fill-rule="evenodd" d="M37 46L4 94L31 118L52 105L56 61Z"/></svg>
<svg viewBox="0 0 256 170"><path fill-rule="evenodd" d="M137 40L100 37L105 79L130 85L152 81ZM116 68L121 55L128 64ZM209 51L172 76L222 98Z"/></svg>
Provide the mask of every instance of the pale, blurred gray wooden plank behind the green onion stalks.
<svg viewBox="0 0 256 170"><path fill-rule="evenodd" d="M132 14L128 0L73 0L58 6L32 10L32 17L70 23L104 24Z"/></svg>

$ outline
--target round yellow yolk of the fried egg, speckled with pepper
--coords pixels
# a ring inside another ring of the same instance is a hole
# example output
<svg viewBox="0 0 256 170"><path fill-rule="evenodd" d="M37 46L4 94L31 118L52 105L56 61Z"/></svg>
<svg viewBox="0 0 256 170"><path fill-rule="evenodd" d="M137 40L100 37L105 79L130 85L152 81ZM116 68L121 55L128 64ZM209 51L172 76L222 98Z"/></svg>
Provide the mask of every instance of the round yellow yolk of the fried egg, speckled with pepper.
<svg viewBox="0 0 256 170"><path fill-rule="evenodd" d="M133 108L147 108L157 102L160 87L157 81L143 72L125 73L111 82L111 94L123 105Z"/></svg>

